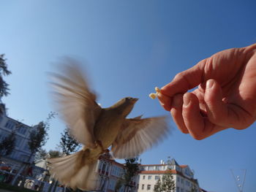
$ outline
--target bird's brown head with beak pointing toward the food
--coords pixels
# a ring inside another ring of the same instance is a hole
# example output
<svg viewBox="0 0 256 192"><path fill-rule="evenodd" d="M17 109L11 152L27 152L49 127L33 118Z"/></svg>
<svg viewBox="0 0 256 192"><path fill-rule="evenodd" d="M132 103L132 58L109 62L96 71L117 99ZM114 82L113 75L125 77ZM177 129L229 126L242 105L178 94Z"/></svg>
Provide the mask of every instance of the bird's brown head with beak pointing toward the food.
<svg viewBox="0 0 256 192"><path fill-rule="evenodd" d="M129 112L132 111L132 108L135 105L136 101L138 101L137 98L132 98L128 96L117 101L117 103L114 104L112 107L116 108L119 112L121 112L122 115L126 117L127 115L129 115Z"/></svg>

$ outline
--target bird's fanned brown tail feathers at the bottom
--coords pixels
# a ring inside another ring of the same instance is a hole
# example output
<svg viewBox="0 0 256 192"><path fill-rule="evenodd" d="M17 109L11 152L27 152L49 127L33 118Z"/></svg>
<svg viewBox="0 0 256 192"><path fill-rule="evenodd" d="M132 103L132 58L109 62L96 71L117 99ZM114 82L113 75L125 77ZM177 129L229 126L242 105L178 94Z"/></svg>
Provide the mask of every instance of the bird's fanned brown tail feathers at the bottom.
<svg viewBox="0 0 256 192"><path fill-rule="evenodd" d="M50 158L48 166L50 174L67 187L97 190L97 159L90 157L89 149L61 158Z"/></svg>

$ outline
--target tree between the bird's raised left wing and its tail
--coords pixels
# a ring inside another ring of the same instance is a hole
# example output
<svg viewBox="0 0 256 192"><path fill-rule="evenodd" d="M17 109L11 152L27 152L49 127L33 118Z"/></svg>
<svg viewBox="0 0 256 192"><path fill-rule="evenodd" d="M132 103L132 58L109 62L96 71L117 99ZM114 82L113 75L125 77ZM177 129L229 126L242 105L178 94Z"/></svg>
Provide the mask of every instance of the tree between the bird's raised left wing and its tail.
<svg viewBox="0 0 256 192"><path fill-rule="evenodd" d="M68 128L65 128L64 133L61 133L61 142L59 145L62 152L66 155L77 152L81 147L81 145L71 136Z"/></svg>

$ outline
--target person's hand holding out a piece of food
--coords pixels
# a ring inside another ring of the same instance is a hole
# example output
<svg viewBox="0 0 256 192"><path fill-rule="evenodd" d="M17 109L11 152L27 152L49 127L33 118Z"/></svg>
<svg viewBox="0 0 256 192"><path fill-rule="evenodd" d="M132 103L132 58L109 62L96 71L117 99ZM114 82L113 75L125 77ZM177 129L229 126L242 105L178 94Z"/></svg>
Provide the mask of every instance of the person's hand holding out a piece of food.
<svg viewBox="0 0 256 192"><path fill-rule="evenodd" d="M178 73L160 92L162 107L195 139L248 128L256 120L256 44L211 55Z"/></svg>

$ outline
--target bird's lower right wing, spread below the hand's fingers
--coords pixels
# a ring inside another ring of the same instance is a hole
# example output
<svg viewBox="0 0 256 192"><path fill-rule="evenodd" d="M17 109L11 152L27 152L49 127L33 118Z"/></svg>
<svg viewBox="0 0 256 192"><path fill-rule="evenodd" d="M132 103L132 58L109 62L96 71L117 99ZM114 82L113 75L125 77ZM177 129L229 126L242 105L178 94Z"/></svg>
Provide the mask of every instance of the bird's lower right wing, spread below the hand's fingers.
<svg viewBox="0 0 256 192"><path fill-rule="evenodd" d="M126 119L112 145L115 158L132 158L157 144L170 130L167 117Z"/></svg>

